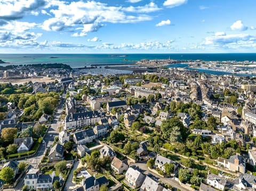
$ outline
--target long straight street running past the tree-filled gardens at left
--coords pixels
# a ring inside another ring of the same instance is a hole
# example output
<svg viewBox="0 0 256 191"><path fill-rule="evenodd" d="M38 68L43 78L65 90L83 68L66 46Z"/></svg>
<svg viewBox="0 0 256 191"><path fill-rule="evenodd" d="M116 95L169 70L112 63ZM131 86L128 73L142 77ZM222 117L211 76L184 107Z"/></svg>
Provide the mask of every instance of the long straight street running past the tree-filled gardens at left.
<svg viewBox="0 0 256 191"><path fill-rule="evenodd" d="M46 151L46 147L50 147L54 143L54 137L59 135L58 128L61 126L61 119L60 115L61 112L63 111L63 106L64 106L65 100L64 98L61 97L61 103L57 110L55 111L53 120L50 124L49 129L46 132L46 135L44 137L44 144L42 143L39 148L37 153L33 157L29 157L28 159L24 160L17 160L18 162L26 162L31 165L32 169L36 169L37 165L40 163L40 161L43 159L44 153ZM19 182L19 184L15 187L14 190L22 190L22 187L24 185L23 179Z"/></svg>

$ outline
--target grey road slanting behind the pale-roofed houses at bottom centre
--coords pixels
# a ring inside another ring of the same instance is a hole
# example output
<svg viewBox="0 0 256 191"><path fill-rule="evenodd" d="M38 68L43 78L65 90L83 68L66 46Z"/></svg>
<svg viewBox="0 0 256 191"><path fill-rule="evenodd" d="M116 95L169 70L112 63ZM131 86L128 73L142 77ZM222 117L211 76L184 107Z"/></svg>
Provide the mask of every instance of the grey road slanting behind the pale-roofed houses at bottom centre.
<svg viewBox="0 0 256 191"><path fill-rule="evenodd" d="M147 168L146 162L131 163L130 165L133 165L133 164L136 165L137 167L139 167L145 175L148 175L148 173L150 173L151 175L155 176L158 179L158 181L161 181L164 184L169 184L172 187L180 189L180 190L189 191L188 189L180 186L179 182L177 182L171 178L162 178L159 175L157 175L156 173L149 171Z"/></svg>

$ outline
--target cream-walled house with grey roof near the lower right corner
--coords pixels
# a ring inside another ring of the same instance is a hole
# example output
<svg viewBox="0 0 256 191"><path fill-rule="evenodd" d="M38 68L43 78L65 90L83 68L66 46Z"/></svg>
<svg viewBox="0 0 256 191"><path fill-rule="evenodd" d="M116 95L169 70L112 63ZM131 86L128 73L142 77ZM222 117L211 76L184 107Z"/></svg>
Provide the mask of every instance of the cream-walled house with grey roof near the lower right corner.
<svg viewBox="0 0 256 191"><path fill-rule="evenodd" d="M217 164L233 172L245 173L245 160L240 155L230 156L228 160L218 157Z"/></svg>

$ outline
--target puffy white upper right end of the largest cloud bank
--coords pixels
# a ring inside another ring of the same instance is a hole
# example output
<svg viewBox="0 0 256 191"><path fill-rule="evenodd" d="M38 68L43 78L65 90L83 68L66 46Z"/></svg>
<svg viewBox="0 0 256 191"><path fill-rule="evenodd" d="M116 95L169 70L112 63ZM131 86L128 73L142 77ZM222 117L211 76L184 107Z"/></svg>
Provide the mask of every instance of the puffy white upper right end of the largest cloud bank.
<svg viewBox="0 0 256 191"><path fill-rule="evenodd" d="M129 7L124 7L122 9L123 11L126 12L135 12L135 13L150 13L150 12L155 12L161 10L154 2L150 2L149 4L145 6L129 6Z"/></svg>

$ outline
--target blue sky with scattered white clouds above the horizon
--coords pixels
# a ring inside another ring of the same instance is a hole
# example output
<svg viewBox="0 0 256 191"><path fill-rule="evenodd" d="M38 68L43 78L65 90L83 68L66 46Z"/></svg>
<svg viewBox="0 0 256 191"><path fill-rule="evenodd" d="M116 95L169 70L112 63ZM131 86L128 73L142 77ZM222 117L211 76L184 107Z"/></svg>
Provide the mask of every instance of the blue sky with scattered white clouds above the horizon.
<svg viewBox="0 0 256 191"><path fill-rule="evenodd" d="M0 0L0 53L256 52L255 7L255 0Z"/></svg>

